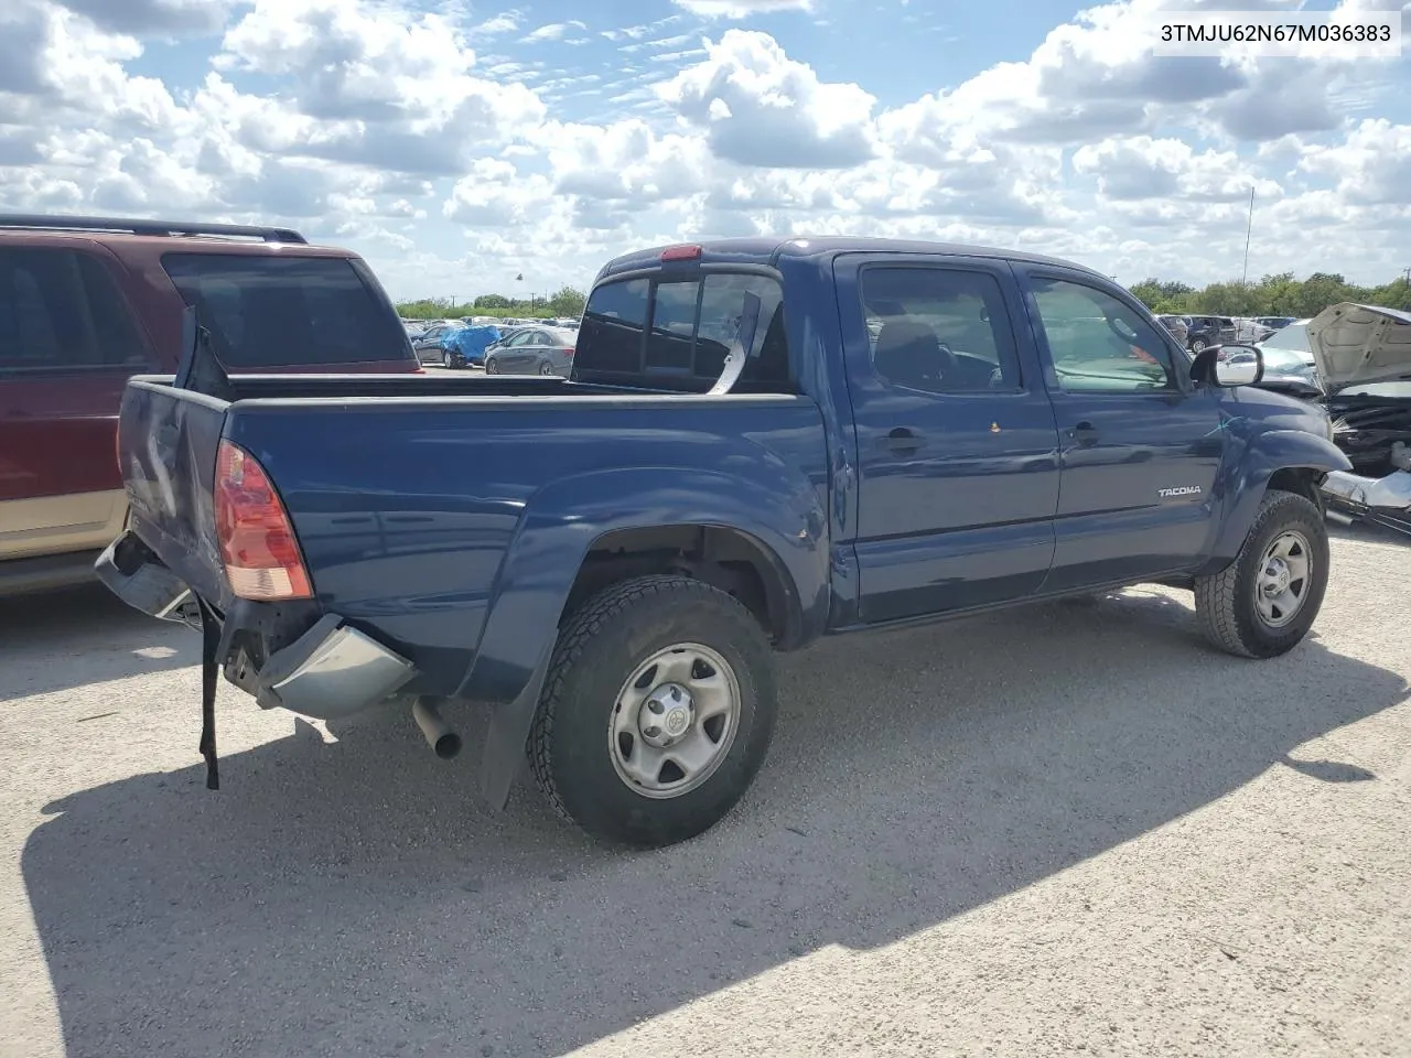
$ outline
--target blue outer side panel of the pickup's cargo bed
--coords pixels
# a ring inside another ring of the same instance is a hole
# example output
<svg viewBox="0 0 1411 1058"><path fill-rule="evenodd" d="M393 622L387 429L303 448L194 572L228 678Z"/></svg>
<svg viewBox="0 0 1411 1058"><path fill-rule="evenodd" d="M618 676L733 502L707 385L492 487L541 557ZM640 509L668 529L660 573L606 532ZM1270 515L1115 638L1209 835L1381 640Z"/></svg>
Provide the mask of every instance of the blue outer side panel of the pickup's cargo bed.
<svg viewBox="0 0 1411 1058"><path fill-rule="evenodd" d="M241 401L226 436L278 484L319 604L405 652L418 690L512 698L612 529L744 530L787 573L799 619L823 631L828 481L811 401L450 398L409 412Z"/></svg>

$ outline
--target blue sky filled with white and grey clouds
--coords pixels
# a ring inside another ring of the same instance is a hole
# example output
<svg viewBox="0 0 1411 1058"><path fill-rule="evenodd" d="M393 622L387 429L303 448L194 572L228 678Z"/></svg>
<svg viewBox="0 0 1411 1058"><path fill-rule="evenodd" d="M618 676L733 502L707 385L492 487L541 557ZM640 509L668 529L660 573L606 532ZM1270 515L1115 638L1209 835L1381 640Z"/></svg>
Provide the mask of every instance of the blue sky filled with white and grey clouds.
<svg viewBox="0 0 1411 1058"><path fill-rule="evenodd" d="M1204 284L1254 188L1252 275L1411 267L1411 56L1153 58L1171 6L4 0L0 210L279 221L464 299L752 233Z"/></svg>

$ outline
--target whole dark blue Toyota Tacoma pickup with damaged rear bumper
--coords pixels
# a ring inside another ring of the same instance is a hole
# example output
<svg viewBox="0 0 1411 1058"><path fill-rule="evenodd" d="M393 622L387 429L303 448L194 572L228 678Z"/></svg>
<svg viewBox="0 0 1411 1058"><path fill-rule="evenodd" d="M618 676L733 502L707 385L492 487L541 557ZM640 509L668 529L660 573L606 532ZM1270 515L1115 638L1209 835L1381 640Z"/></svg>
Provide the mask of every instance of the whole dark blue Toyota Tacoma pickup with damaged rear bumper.
<svg viewBox="0 0 1411 1058"><path fill-rule="evenodd" d="M1194 358L1103 275L890 240L729 240L598 274L571 378L134 378L99 560L217 673L320 718L491 707L600 839L690 838L761 767L772 652L1134 583L1273 657L1328 584L1326 413ZM1236 372L1246 374L1237 375ZM1099 659L1095 659L1098 663ZM858 703L873 708L875 703Z"/></svg>

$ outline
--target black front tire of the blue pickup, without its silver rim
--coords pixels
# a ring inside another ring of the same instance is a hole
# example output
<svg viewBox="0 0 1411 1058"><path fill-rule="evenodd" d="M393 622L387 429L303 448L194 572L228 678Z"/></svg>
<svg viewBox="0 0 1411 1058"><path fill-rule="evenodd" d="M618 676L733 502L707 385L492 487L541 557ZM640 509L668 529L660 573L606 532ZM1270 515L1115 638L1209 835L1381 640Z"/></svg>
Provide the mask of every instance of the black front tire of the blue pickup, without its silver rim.
<svg viewBox="0 0 1411 1058"><path fill-rule="evenodd" d="M1260 567L1270 545L1290 530L1308 543L1308 583L1288 624L1271 626L1256 605ZM1318 506L1297 492L1270 490L1235 561L1219 573L1195 578L1201 632L1236 657L1277 657L1292 650L1318 618L1328 590L1328 525Z"/></svg>

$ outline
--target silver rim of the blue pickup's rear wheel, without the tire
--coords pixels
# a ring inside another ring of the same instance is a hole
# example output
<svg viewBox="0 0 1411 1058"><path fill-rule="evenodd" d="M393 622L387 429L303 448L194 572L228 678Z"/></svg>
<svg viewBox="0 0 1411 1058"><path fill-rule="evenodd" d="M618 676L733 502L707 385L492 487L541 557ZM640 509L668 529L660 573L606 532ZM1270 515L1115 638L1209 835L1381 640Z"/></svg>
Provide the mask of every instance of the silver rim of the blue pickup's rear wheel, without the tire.
<svg viewBox="0 0 1411 1058"><path fill-rule="evenodd" d="M739 726L739 680L701 643L658 650L622 684L608 721L618 777L643 797L689 793L729 753Z"/></svg>

